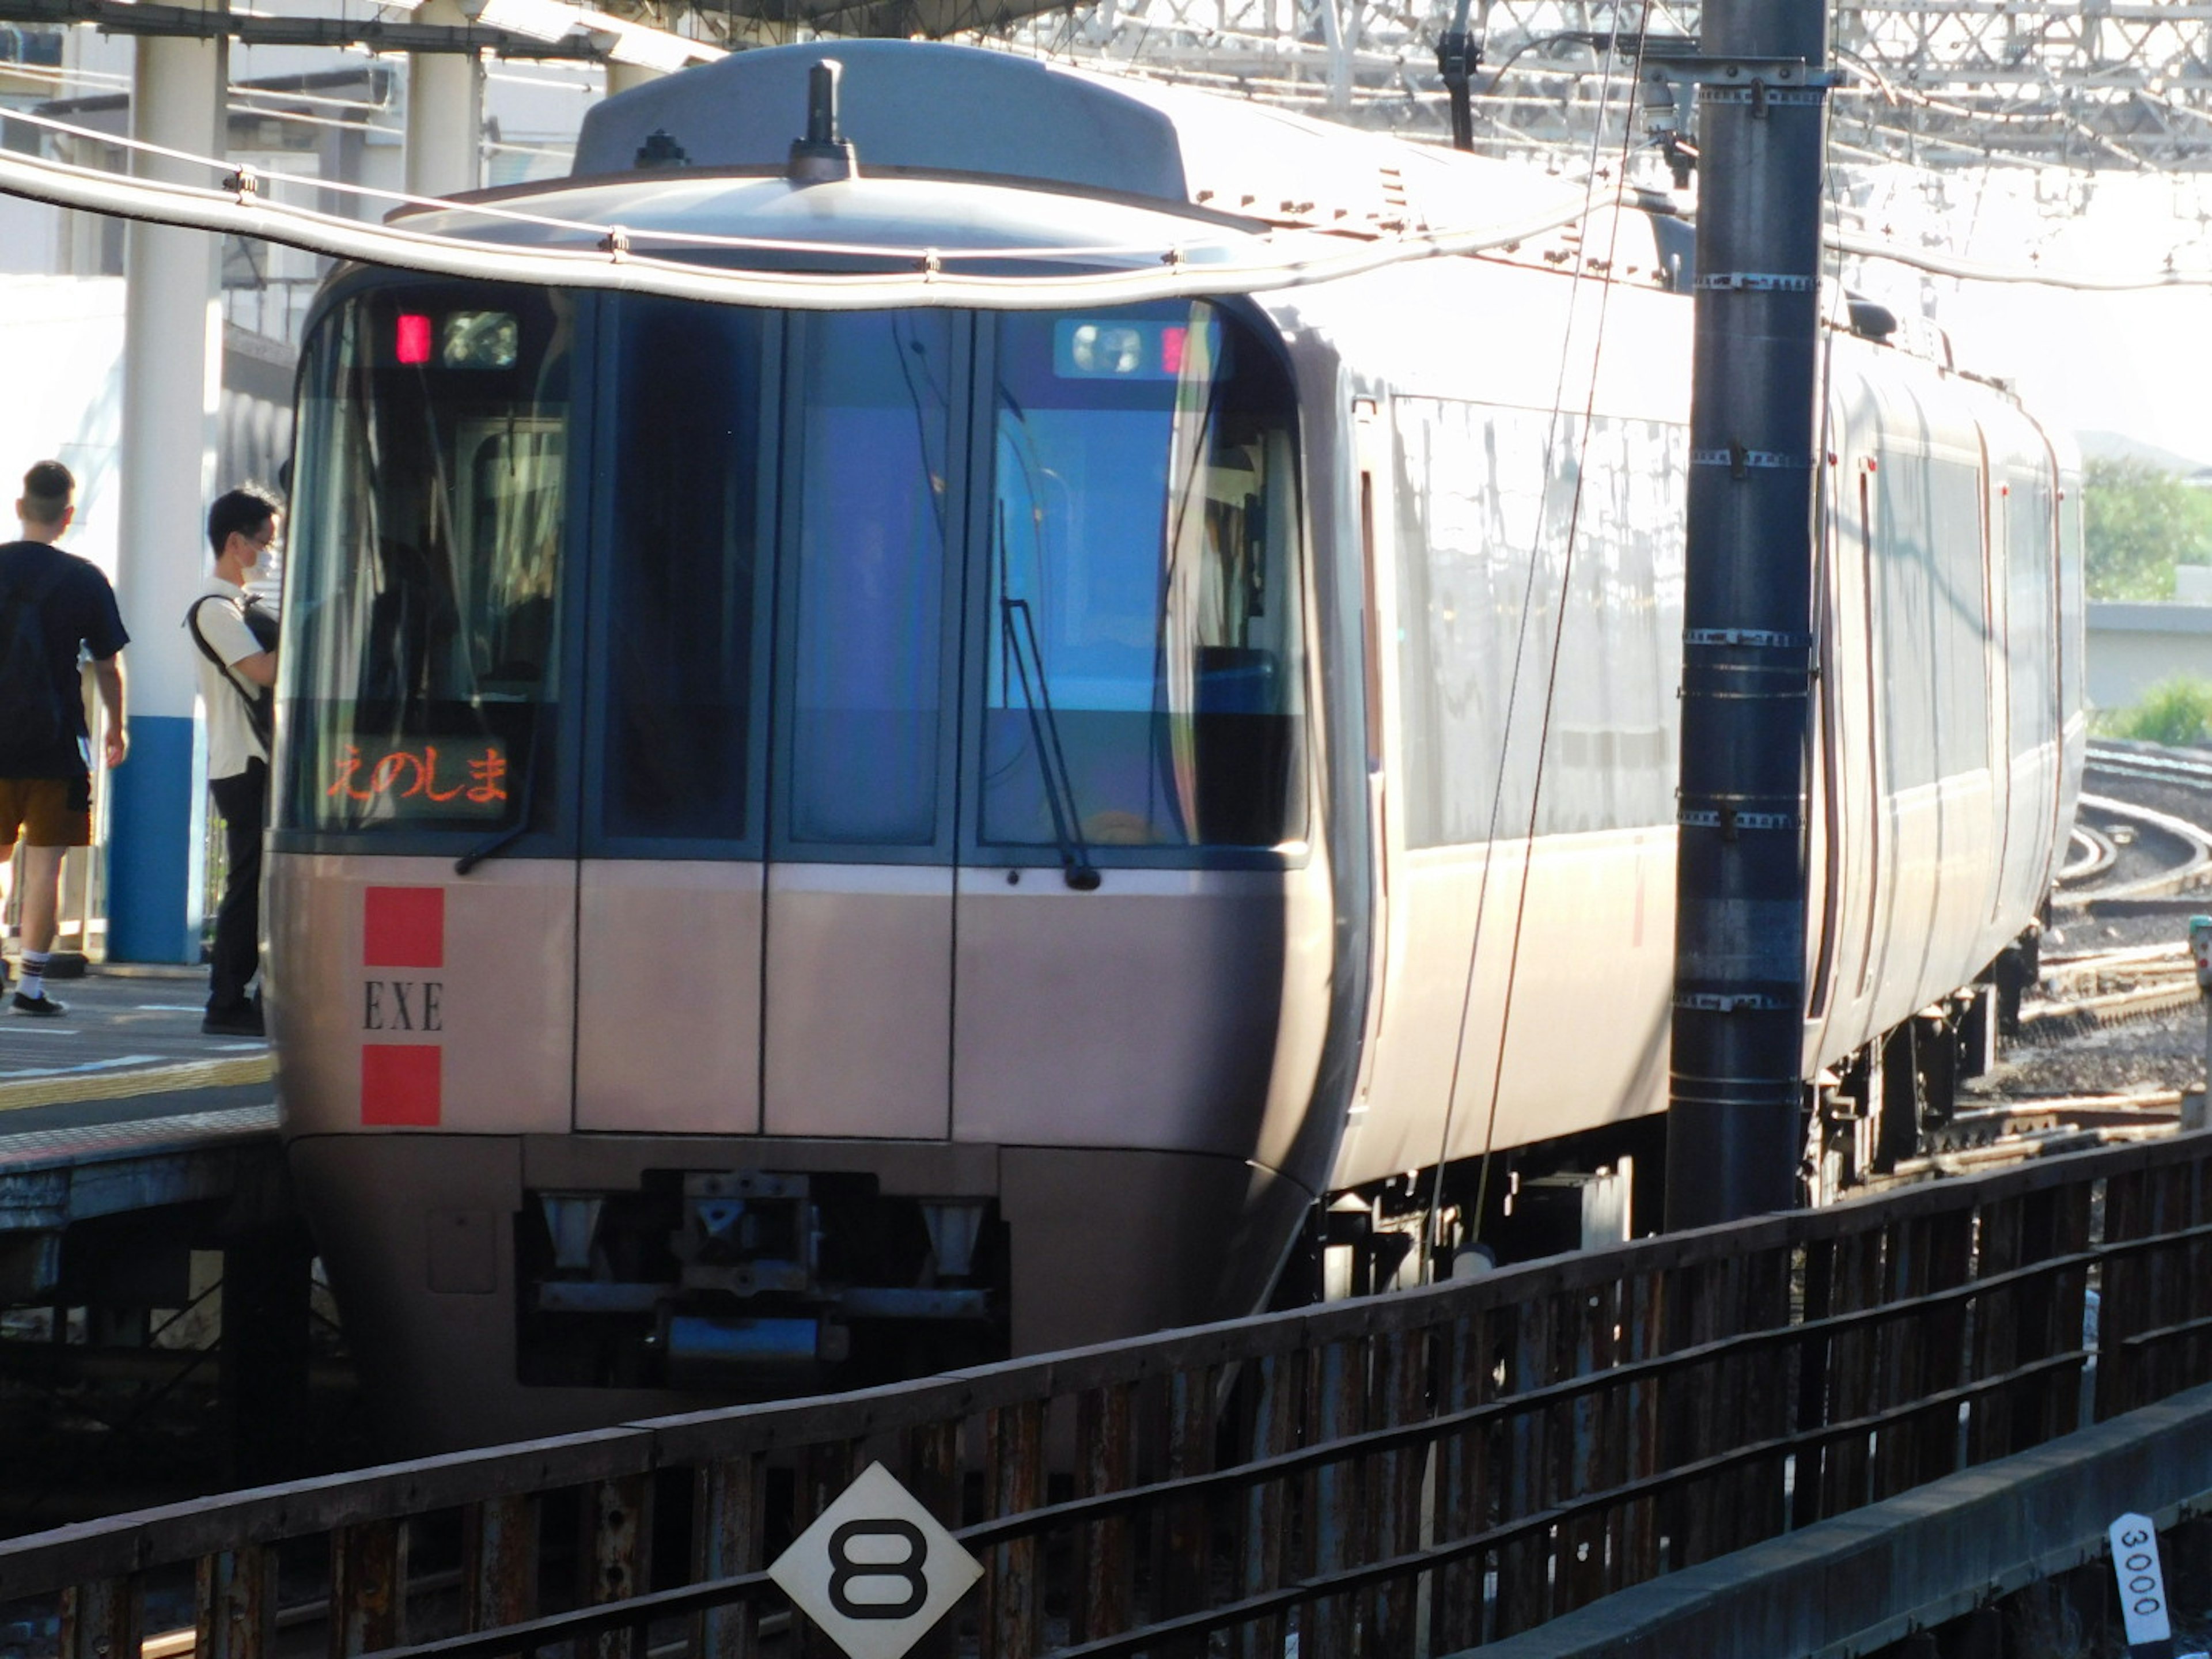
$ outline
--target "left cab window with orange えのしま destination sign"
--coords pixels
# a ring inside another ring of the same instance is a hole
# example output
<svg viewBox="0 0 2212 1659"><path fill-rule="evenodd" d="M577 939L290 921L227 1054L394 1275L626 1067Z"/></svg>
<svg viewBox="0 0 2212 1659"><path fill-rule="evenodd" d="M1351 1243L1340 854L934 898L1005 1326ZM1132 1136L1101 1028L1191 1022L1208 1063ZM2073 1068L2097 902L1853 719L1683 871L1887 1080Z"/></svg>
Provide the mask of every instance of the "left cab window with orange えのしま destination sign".
<svg viewBox="0 0 2212 1659"><path fill-rule="evenodd" d="M553 765L571 332L560 294L440 285L310 338L283 827L498 830Z"/></svg>

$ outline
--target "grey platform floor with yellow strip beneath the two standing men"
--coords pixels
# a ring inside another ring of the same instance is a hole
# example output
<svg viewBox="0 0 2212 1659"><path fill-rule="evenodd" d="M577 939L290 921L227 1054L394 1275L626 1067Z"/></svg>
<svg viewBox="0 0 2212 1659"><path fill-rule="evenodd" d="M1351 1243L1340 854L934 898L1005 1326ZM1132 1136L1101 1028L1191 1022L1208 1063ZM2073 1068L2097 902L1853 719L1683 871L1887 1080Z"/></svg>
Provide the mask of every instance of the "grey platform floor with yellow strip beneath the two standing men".
<svg viewBox="0 0 2212 1659"><path fill-rule="evenodd" d="M206 969L95 967L49 982L60 1020L0 1002L0 1139L268 1106L268 1044L204 1037L206 984Z"/></svg>

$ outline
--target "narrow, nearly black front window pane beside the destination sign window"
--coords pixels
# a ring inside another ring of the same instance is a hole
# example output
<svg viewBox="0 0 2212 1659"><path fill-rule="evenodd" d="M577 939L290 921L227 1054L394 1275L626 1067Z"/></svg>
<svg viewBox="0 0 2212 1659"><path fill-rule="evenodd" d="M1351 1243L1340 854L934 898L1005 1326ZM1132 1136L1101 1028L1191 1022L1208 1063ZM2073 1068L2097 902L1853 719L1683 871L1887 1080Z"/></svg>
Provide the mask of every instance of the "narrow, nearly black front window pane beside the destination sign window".
<svg viewBox="0 0 2212 1659"><path fill-rule="evenodd" d="M604 830L752 832L761 314L626 299L606 573Z"/></svg>

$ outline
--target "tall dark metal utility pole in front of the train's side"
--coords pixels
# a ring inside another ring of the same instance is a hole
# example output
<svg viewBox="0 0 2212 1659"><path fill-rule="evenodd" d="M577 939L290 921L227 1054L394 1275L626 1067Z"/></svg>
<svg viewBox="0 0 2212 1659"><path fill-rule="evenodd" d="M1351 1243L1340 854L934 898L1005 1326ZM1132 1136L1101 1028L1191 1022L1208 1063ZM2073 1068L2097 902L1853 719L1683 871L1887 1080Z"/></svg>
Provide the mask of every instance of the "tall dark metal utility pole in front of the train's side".
<svg viewBox="0 0 2212 1659"><path fill-rule="evenodd" d="M1705 0L1666 1223L1796 1201L1825 0Z"/></svg>

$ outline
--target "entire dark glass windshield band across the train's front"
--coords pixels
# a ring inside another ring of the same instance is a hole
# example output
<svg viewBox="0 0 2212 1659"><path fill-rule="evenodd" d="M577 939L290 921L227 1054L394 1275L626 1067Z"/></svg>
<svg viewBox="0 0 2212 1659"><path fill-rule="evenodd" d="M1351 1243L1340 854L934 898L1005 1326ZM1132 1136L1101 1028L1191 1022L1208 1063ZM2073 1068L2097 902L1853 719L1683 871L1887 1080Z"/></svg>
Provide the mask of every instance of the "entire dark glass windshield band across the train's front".
<svg viewBox="0 0 2212 1659"><path fill-rule="evenodd" d="M624 845L1274 849L1298 529L1225 307L356 290L303 372L279 827L560 832L575 768Z"/></svg>

